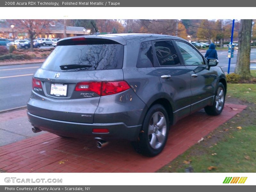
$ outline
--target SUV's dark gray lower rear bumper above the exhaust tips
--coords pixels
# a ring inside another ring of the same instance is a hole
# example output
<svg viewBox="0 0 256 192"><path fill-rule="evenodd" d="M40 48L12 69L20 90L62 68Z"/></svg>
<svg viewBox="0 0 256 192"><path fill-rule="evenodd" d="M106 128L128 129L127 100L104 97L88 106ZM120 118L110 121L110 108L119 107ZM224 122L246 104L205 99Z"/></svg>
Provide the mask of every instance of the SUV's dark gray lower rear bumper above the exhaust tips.
<svg viewBox="0 0 256 192"><path fill-rule="evenodd" d="M33 115L28 112L30 123L40 130L51 132L66 137L81 138L86 136L101 137L102 139L126 139L135 141L138 139L141 125L127 126L124 123L76 123L48 119ZM92 129L106 128L109 133L92 133Z"/></svg>

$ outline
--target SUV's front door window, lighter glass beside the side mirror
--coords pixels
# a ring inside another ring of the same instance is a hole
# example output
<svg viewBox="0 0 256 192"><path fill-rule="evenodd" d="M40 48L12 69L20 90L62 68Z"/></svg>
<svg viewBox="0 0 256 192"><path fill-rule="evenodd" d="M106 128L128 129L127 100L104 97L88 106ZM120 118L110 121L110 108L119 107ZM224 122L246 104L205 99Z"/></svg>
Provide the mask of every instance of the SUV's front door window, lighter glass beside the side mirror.
<svg viewBox="0 0 256 192"><path fill-rule="evenodd" d="M176 41L182 57L184 59L185 65L204 65L203 57L190 45Z"/></svg>

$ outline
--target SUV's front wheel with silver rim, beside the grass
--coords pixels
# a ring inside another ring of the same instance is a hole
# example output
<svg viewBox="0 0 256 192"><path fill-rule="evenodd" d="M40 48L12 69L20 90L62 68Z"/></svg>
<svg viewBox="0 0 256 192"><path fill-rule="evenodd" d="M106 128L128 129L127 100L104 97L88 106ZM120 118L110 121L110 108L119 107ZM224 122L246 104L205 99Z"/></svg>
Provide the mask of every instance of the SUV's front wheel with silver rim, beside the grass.
<svg viewBox="0 0 256 192"><path fill-rule="evenodd" d="M222 92L223 95L220 93L220 91L223 91ZM219 83L215 92L214 103L212 106L206 106L204 108L205 112L208 115L213 115L213 116L220 115L224 108L225 96L226 96L225 87L222 83Z"/></svg>

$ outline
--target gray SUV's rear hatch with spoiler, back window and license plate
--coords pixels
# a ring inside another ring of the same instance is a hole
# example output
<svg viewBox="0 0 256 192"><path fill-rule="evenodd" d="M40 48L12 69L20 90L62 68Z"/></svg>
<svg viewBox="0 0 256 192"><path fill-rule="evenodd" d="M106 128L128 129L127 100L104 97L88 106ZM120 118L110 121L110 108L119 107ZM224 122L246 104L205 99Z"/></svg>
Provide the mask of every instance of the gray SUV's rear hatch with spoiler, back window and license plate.
<svg viewBox="0 0 256 192"><path fill-rule="evenodd" d="M124 45L103 38L61 40L33 77L28 111L36 116L93 123L103 90L124 80ZM114 82L114 83L113 83ZM116 85L117 85L116 84ZM111 90L110 90L111 92Z"/></svg>

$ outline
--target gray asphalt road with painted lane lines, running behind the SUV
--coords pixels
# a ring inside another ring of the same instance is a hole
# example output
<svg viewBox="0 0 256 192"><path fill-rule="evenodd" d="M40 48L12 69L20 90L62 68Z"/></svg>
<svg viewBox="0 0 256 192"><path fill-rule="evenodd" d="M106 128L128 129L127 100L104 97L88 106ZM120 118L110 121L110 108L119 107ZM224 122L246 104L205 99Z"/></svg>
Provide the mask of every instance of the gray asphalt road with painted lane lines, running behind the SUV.
<svg viewBox="0 0 256 192"><path fill-rule="evenodd" d="M237 51L231 59L230 72L235 70L236 56ZM227 51L218 51L218 57L218 66L227 72ZM251 60L256 60L256 49L252 49ZM27 104L32 89L32 76L41 65L42 63L0 66L0 111ZM251 64L251 69L256 69L256 64Z"/></svg>

